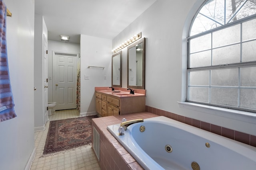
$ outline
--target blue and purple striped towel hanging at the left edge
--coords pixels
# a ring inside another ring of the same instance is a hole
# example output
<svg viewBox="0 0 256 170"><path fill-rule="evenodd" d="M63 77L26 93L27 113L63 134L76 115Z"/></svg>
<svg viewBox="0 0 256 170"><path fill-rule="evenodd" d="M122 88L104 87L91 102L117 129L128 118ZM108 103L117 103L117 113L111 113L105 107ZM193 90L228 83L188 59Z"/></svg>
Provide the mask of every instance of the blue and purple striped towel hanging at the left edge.
<svg viewBox="0 0 256 170"><path fill-rule="evenodd" d="M16 117L7 60L6 5L0 0L0 122Z"/></svg>

